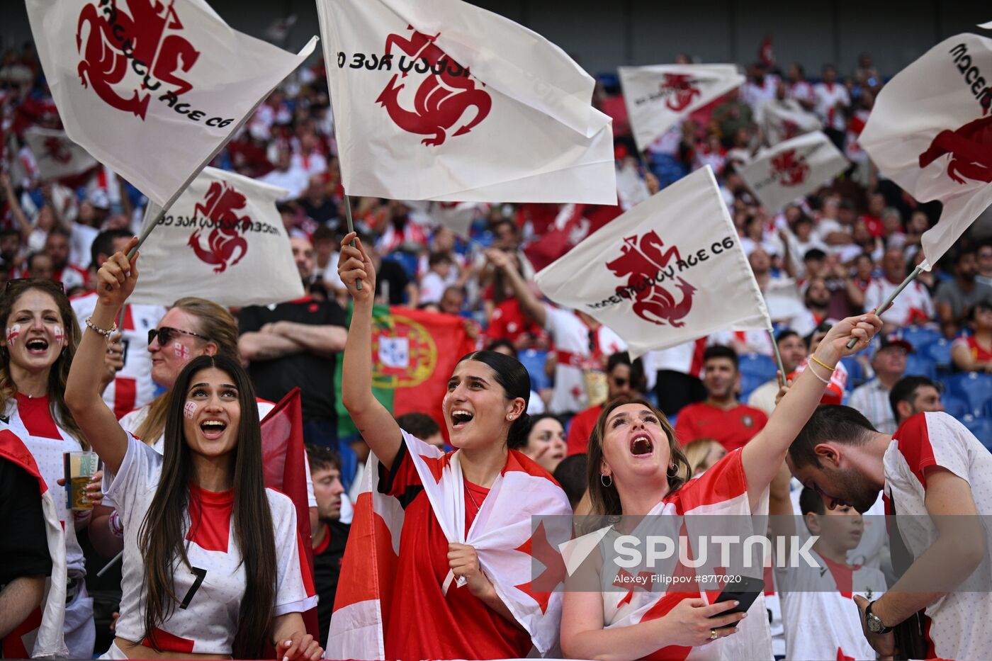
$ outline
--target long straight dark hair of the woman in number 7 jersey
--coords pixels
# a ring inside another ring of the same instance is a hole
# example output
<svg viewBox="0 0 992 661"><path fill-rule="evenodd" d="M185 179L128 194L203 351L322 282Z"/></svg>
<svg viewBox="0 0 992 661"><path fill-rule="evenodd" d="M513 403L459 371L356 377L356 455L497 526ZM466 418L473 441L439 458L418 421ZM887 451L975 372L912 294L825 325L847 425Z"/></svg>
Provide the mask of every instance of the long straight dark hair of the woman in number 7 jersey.
<svg viewBox="0 0 992 661"><path fill-rule="evenodd" d="M185 523L189 482L193 478L192 451L184 434L186 391L197 372L215 367L238 389L241 418L237 445L231 451L234 491L234 537L245 567L245 594L241 598L234 636L235 659L258 658L272 625L276 593L276 540L272 512L262 475L262 433L251 380L241 364L226 355L201 355L190 360L176 379L166 417L165 463L148 513L138 531L145 554L145 637L159 649L155 631L173 613L177 602L174 565L179 559L191 569L186 556ZM189 521L190 527L199 521Z"/></svg>

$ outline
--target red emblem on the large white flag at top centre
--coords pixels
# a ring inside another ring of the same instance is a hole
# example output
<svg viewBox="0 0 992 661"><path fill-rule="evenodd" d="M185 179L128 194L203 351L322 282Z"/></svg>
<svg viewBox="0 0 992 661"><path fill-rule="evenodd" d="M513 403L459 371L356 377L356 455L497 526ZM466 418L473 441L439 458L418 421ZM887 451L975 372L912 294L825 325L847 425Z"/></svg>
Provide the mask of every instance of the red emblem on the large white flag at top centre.
<svg viewBox="0 0 992 661"><path fill-rule="evenodd" d="M413 28L408 26L408 29ZM440 145L448 138L448 131L469 108L474 107L475 116L461 124L451 136L464 135L486 118L492 108L492 98L484 89L475 86L475 81L464 74L466 69L448 58L436 45L434 37L414 32L410 39L400 35L386 38L386 53L393 55L393 47L399 48L413 60L430 66L426 77L414 95L414 109L408 110L400 104L400 90L406 83L398 81L409 71L395 73L386 85L376 103L389 112L397 126L408 133L433 136L421 141L424 145ZM438 68L438 63L441 65ZM452 72L452 67L457 67ZM437 72L439 70L439 72Z"/></svg>

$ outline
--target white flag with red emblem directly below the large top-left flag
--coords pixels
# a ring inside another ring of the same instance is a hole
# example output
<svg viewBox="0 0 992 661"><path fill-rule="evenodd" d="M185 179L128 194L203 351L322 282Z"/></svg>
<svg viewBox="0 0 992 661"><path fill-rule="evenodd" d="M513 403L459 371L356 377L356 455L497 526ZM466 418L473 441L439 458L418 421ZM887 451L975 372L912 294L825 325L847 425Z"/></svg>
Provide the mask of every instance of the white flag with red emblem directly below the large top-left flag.
<svg viewBox="0 0 992 661"><path fill-rule="evenodd" d="M132 303L171 306L195 293L222 306L283 303L304 295L276 200L286 191L204 168L141 247ZM161 211L149 203L145 222Z"/></svg>

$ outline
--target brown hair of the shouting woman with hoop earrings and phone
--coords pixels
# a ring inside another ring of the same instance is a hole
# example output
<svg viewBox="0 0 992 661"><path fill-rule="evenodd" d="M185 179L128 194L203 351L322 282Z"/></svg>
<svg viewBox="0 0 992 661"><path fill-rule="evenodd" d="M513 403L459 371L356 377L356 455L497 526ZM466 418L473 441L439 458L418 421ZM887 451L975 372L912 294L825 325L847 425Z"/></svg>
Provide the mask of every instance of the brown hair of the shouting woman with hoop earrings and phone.
<svg viewBox="0 0 992 661"><path fill-rule="evenodd" d="M679 448L679 442L676 441L676 431L672 427L672 423L669 422L669 419L665 417L665 414L647 400L621 395L603 407L602 413L599 414L599 418L596 420L596 426L592 430L592 436L589 437L589 463L586 481L589 487L589 504L591 506L589 514L591 515L620 516L623 514L623 507L620 505L620 492L617 491L616 484L612 481L609 486L603 484L602 474L599 470L603 462L603 439L606 437L606 419L609 418L610 413L614 409L625 404L640 404L654 413L662 423L662 429L665 430L665 435L669 439L670 462L676 464L675 476L668 475L669 493L679 490L691 475L685 455L682 454L682 450Z"/></svg>

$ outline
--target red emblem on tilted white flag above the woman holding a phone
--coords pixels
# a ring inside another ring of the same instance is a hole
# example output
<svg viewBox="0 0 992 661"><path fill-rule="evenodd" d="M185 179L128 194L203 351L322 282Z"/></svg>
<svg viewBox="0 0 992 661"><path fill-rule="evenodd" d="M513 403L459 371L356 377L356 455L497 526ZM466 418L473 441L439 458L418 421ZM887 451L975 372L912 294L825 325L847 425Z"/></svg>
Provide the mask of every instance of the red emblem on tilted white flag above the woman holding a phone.
<svg viewBox="0 0 992 661"><path fill-rule="evenodd" d="M617 294L634 296L634 312L646 322L674 328L682 328L683 317L692 309L692 294L695 287L676 278L676 288L682 292L682 301L676 303L675 297L659 283L655 276L659 270L665 269L673 255L676 260L682 259L678 247L663 251L665 242L655 231L650 231L638 240L636 236L628 236L621 247L621 255L612 262L606 263L606 268L618 278L627 278L627 285L617 287ZM644 287L645 281L652 284Z"/></svg>

